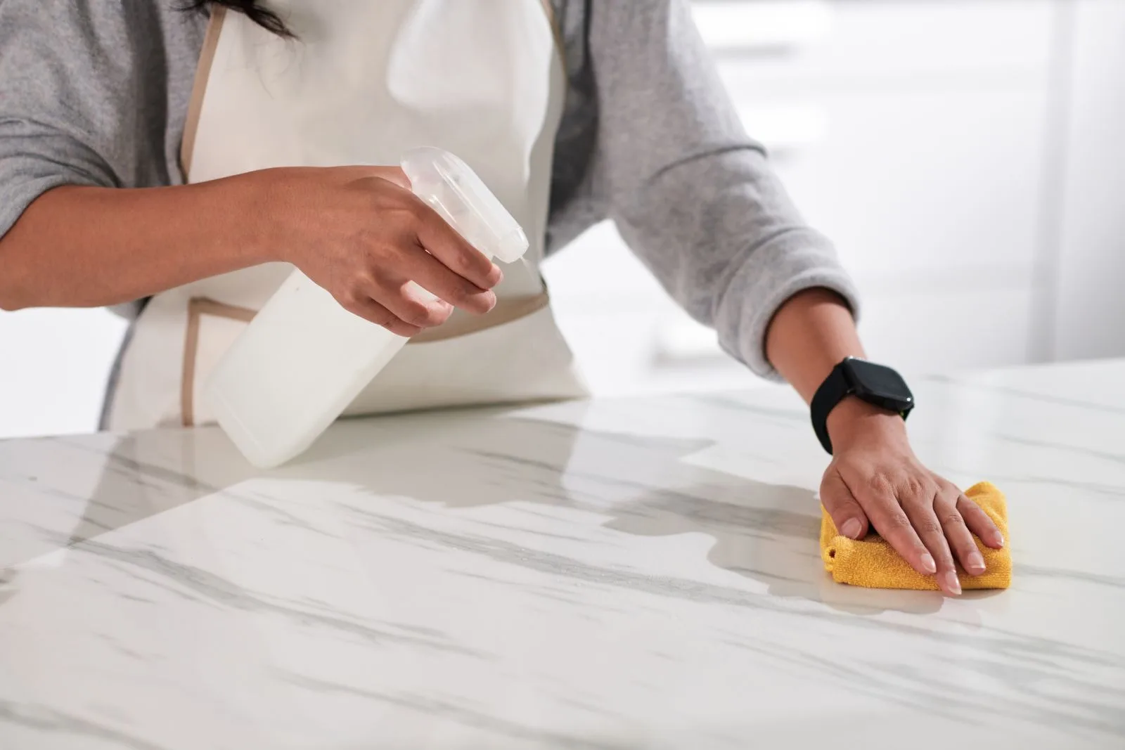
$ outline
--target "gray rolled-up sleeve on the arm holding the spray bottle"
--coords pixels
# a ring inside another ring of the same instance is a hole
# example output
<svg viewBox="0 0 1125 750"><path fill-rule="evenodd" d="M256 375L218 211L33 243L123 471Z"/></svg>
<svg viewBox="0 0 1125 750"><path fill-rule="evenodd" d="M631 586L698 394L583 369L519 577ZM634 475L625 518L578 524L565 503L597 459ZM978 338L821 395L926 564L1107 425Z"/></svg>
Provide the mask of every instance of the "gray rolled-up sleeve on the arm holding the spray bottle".
<svg viewBox="0 0 1125 750"><path fill-rule="evenodd" d="M162 4L0 0L0 236L62 184L178 180Z"/></svg>

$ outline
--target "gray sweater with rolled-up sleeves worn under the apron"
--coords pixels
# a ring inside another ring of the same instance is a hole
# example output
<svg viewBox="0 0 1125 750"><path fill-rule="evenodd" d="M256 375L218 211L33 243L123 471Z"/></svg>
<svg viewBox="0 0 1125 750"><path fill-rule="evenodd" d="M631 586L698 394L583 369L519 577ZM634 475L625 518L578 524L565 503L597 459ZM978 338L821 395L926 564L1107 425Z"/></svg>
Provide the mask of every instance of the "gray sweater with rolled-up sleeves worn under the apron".
<svg viewBox="0 0 1125 750"><path fill-rule="evenodd" d="M182 182L206 18L179 4L0 0L0 236L56 186ZM554 4L569 85L547 251L612 218L728 352L776 377L763 340L785 299L827 287L856 309L831 245L747 137L684 0Z"/></svg>

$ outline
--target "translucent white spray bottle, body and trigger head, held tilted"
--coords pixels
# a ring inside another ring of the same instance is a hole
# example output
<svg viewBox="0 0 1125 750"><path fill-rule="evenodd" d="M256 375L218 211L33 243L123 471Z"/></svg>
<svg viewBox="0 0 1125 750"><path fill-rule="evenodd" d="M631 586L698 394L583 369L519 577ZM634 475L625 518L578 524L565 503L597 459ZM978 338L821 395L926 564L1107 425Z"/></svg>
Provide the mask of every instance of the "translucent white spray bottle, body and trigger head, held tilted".
<svg viewBox="0 0 1125 750"><path fill-rule="evenodd" d="M520 225L460 159L416 148L402 166L414 193L482 253L511 263L526 252ZM406 342L295 271L219 360L205 398L251 463L276 467L312 445Z"/></svg>

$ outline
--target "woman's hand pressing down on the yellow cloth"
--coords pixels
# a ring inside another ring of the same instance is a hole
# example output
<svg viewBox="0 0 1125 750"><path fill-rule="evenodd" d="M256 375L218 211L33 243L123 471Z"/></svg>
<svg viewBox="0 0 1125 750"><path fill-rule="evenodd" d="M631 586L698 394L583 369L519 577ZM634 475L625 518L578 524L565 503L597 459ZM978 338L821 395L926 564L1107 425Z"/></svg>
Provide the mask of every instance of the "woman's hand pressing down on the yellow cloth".
<svg viewBox="0 0 1125 750"><path fill-rule="evenodd" d="M850 397L829 414L828 433L834 457L820 499L842 534L863 539L874 526L953 596L961 594L954 560L972 576L984 572L972 534L993 549L1004 546L1004 536L955 485L915 458L900 416Z"/></svg>

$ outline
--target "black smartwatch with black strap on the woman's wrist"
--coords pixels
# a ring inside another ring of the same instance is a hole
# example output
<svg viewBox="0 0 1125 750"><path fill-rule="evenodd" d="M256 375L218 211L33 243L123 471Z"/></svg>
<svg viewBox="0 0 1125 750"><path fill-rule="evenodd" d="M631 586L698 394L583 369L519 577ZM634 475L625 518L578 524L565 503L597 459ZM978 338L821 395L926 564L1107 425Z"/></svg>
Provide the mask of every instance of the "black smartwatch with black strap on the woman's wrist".
<svg viewBox="0 0 1125 750"><path fill-rule="evenodd" d="M831 455L832 442L828 439L828 415L848 396L855 396L873 406L894 412L903 419L914 408L914 394L907 381L891 368L848 356L832 368L831 374L812 397L812 428L817 439Z"/></svg>

